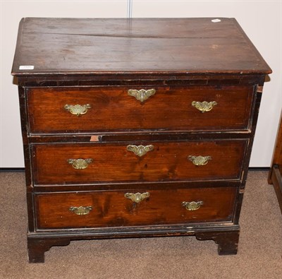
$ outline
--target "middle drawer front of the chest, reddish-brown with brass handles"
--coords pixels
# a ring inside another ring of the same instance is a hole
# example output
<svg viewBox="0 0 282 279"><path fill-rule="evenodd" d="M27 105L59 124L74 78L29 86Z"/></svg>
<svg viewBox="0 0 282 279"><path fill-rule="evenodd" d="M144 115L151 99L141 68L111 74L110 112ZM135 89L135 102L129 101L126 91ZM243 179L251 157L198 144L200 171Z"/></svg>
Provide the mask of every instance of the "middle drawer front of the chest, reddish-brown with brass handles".
<svg viewBox="0 0 282 279"><path fill-rule="evenodd" d="M32 160L35 184L240 179L246 146L247 140L54 143L34 145Z"/></svg>

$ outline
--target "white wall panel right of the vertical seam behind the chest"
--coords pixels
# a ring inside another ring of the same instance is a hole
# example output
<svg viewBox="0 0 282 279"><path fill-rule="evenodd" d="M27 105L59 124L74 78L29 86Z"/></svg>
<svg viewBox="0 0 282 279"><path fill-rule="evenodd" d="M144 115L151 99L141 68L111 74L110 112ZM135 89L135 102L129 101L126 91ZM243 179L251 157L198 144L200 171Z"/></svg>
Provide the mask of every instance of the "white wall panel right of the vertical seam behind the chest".
<svg viewBox="0 0 282 279"><path fill-rule="evenodd" d="M133 18L236 18L271 67L252 148L251 167L269 167L282 108L282 1L146 1L133 0Z"/></svg>

